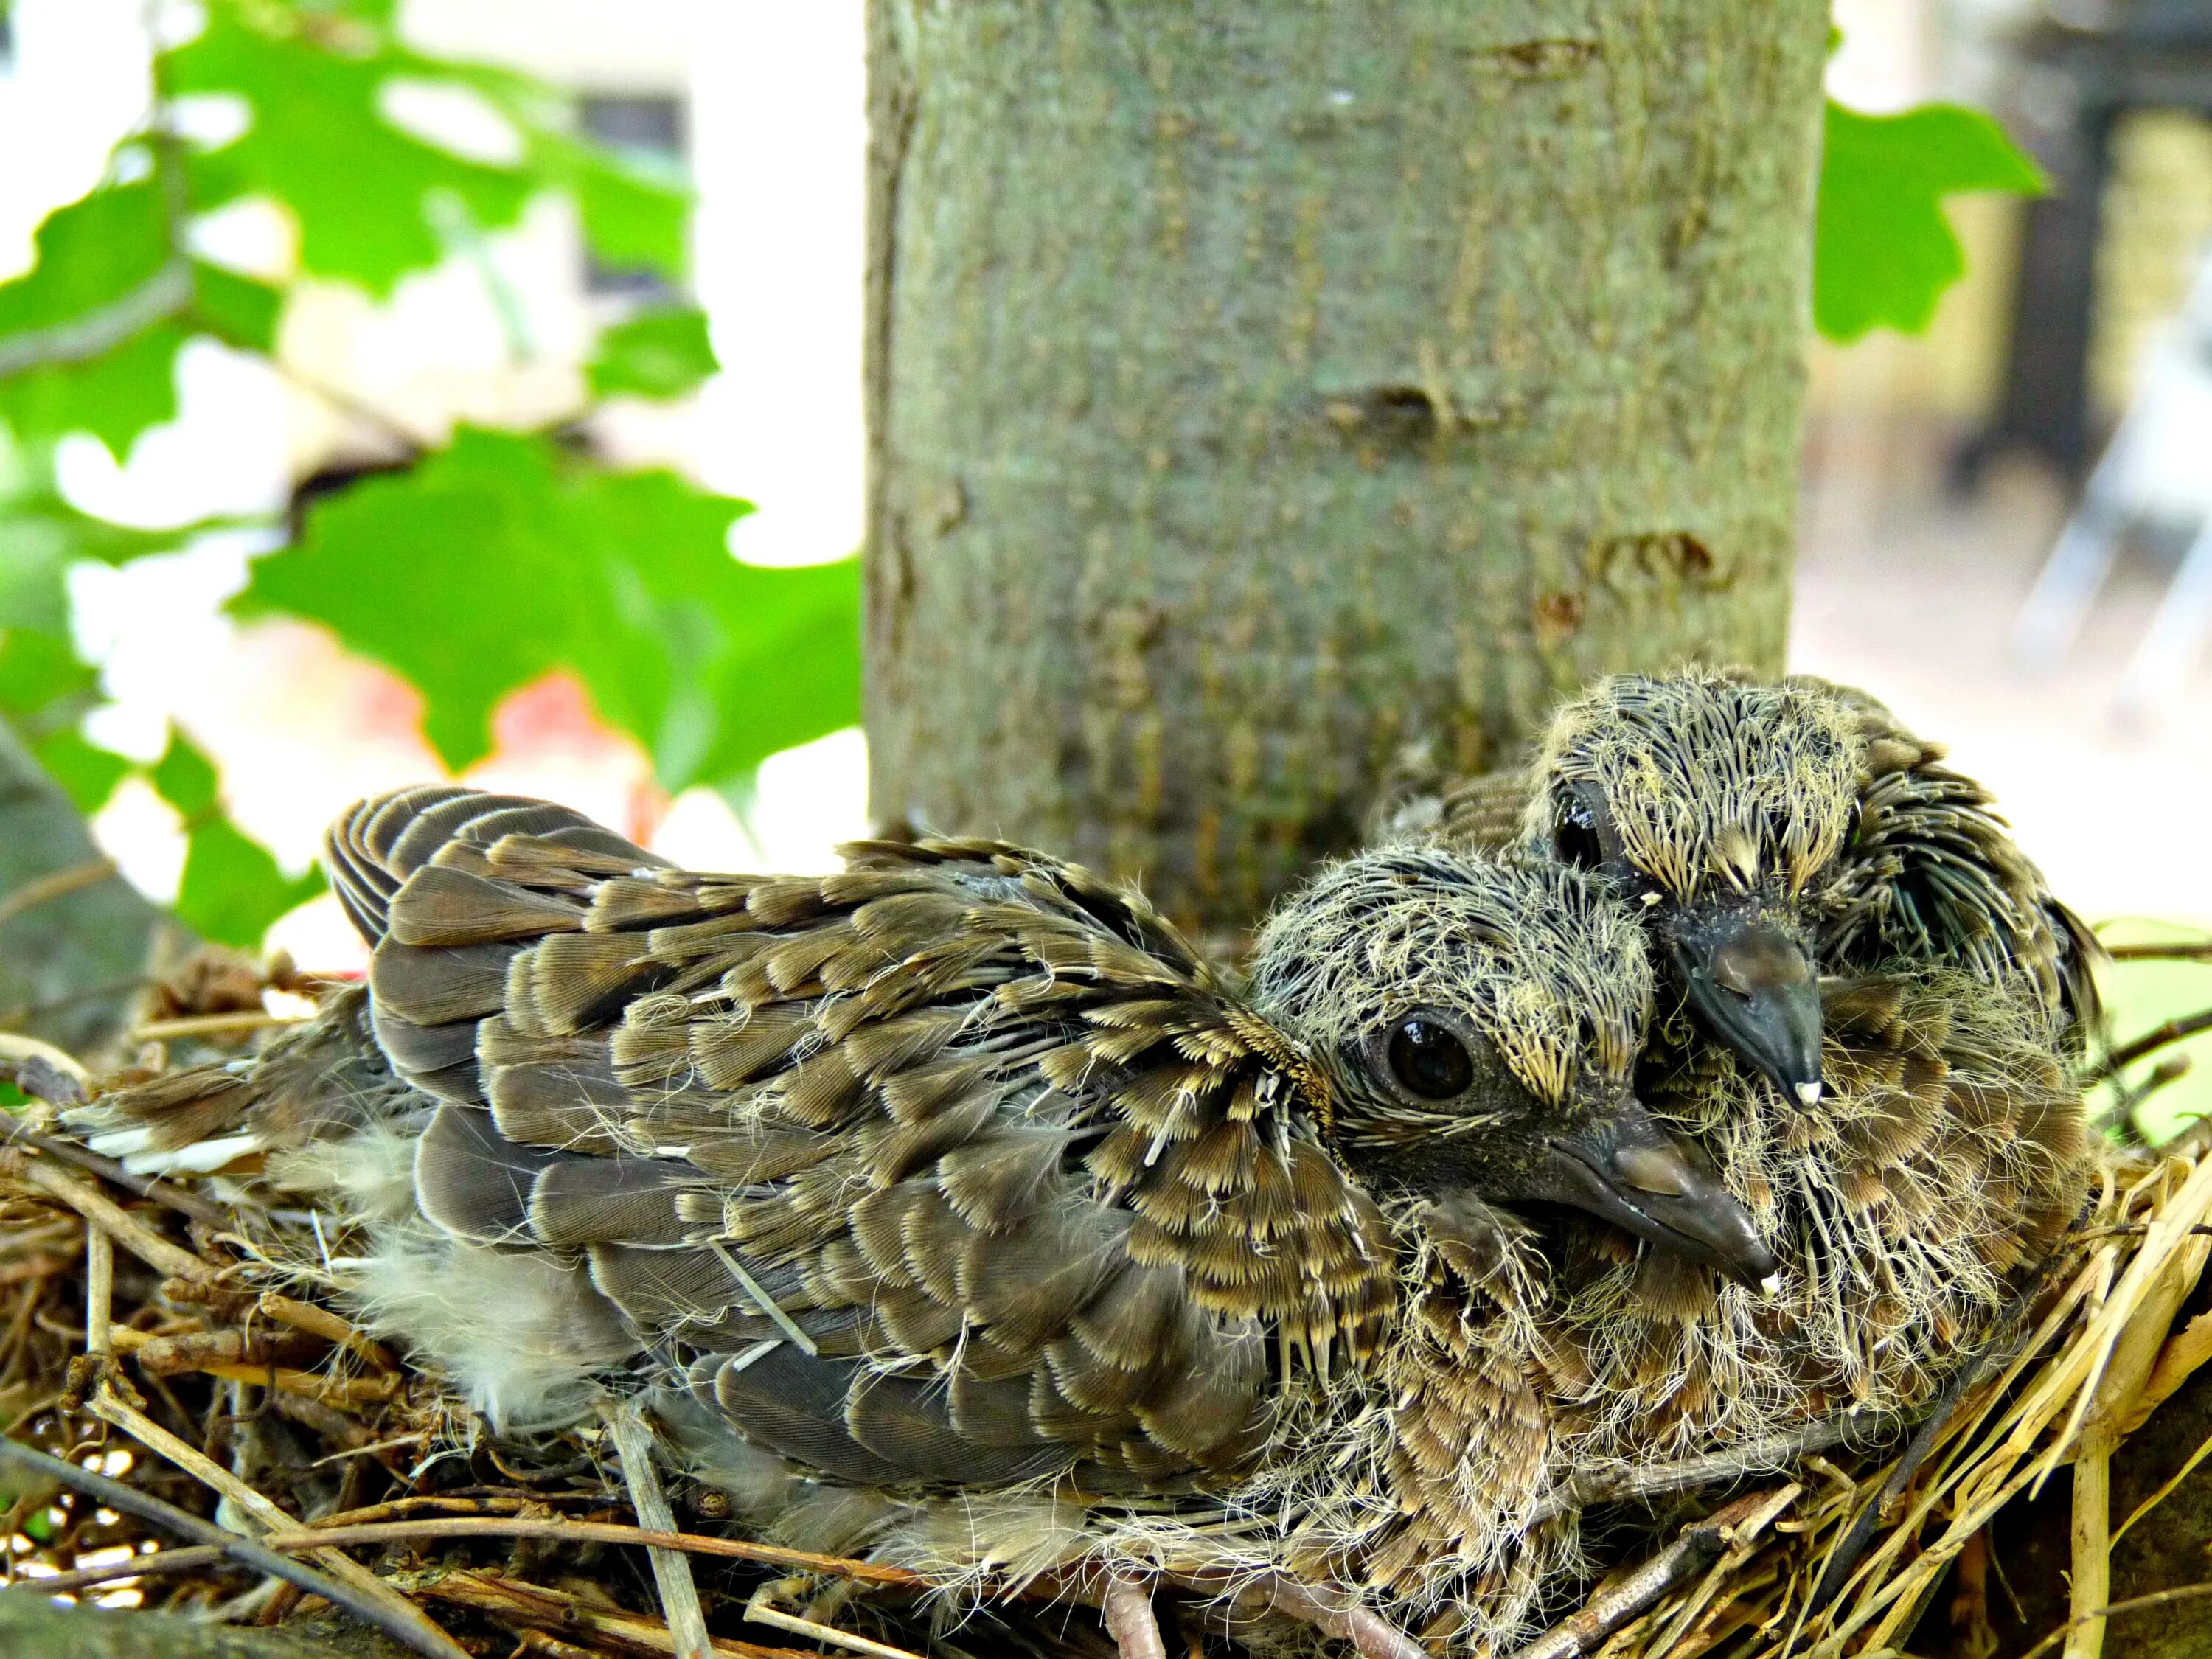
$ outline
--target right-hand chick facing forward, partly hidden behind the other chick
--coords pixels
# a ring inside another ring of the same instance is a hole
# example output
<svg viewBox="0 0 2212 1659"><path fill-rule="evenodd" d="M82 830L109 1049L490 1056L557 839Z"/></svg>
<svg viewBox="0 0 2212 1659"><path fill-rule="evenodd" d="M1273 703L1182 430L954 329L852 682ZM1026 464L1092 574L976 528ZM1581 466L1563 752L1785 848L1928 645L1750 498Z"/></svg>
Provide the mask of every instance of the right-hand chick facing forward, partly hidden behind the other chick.
<svg viewBox="0 0 2212 1659"><path fill-rule="evenodd" d="M1396 818L1637 907L1690 1015L1661 1022L1639 1091L1781 1259L1752 1298L1562 1223L1564 1467L1931 1398L2086 1179L2070 1060L2095 947L1989 796L1865 692L1692 670L1601 681L1526 770Z"/></svg>

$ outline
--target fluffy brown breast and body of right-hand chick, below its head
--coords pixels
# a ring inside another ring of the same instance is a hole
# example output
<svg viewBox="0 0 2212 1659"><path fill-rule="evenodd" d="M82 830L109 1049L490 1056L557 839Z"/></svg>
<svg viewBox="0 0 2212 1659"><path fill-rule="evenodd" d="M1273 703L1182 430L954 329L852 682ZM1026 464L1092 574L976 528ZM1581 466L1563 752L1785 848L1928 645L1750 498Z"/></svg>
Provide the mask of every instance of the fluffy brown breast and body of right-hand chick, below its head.
<svg viewBox="0 0 2212 1659"><path fill-rule="evenodd" d="M1909 1409L1971 1358L2079 1212L2081 1095L2046 1009L1962 969L1832 980L1818 1110L1761 1106L1719 1048L1639 1077L1743 1199L1763 1296L1568 1219L1546 1310L1559 1467L1717 1453Z"/></svg>

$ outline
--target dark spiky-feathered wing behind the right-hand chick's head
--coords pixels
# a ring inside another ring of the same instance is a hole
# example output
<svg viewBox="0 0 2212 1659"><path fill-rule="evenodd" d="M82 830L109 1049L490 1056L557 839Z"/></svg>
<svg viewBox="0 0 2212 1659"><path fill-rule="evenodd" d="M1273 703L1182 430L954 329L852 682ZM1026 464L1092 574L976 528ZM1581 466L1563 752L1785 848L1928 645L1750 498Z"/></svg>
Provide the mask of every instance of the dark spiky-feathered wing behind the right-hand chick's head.
<svg viewBox="0 0 2212 1659"><path fill-rule="evenodd" d="M1865 692L1820 686L1865 741L1858 825L1814 894L1823 964L1863 973L1902 956L1993 984L2026 975L2077 1031L2093 1029L2097 940L2020 852L1989 790Z"/></svg>

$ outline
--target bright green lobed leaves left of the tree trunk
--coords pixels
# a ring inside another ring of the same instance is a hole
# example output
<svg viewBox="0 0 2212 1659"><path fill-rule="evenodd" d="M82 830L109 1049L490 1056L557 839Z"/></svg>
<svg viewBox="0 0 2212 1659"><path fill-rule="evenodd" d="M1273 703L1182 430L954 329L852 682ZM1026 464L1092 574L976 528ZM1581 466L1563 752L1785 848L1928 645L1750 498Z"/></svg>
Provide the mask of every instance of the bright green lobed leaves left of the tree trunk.
<svg viewBox="0 0 2212 1659"><path fill-rule="evenodd" d="M465 155L403 119L403 95L420 88L473 102L511 135L511 157ZM188 102L210 100L243 108L243 128L192 139ZM436 438L285 361L281 319L303 283L387 299L449 259L498 283L487 239L544 195L573 204L593 259L679 292L681 179L577 135L553 88L411 49L396 0L208 0L199 33L155 53L142 131L97 188L40 226L33 270L0 283L0 714L80 810L131 774L177 807L177 911L210 938L259 940L310 883L288 880L230 823L215 770L181 737L148 768L82 737L97 675L71 646L62 577L212 526L128 531L53 487L64 436L124 458L177 418L177 356L192 338L259 358L398 451L400 469L305 502L237 606L321 624L400 672L449 765L489 748L504 695L553 670L577 675L670 790L741 794L776 748L858 719L852 560L739 564L726 538L745 502L591 453L606 400L681 398L714 374L697 305L666 299L602 327L580 365L582 403L533 431ZM195 252L206 217L241 201L290 221L296 270L283 281Z"/></svg>

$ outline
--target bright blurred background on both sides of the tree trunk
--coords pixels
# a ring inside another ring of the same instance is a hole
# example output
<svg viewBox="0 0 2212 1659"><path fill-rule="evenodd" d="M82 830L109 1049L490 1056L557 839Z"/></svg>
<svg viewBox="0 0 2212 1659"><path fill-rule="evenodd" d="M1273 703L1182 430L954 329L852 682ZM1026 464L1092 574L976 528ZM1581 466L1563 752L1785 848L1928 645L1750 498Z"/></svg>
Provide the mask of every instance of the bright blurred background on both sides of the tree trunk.
<svg viewBox="0 0 2212 1659"><path fill-rule="evenodd" d="M509 223L442 226L434 261L365 288L325 281L299 217L265 199L192 221L197 257L283 285L268 349L192 338L175 418L51 447L71 509L195 526L179 551L66 571L73 644L97 670L82 737L150 768L113 785L95 834L157 900L177 894L190 841L159 781L173 734L212 761L230 823L288 876L345 803L469 748L425 737L418 692L332 628L234 615L274 526L347 480L456 425L555 429L608 467L668 467L701 500L752 502L730 529L752 566L845 560L860 538L858 0L405 0L394 20L409 51L522 71L606 153L686 177L686 257L611 261L591 215L544 195ZM2197 535L2212 502L2212 0L1838 0L1836 24L1840 104L1989 111L2053 192L1949 195L1966 268L1924 332L1812 347L1792 661L1947 739L2057 891L2121 922L2115 938L2194 936L2212 925L2212 863L2192 856L2212 823L2212 535ZM146 0L0 9L0 281L33 268L49 212L115 181L155 51L201 27L195 7ZM509 166L529 142L500 95L400 75L376 97L380 122L445 155ZM221 153L237 115L177 108L184 137ZM365 175L323 166L296 188L343 208ZM703 312L703 369L641 389L602 378L604 332L670 303ZM2084 493L2115 429L2124 453ZM449 602L495 615L515 595L487 580ZM856 728L772 754L743 787L670 792L666 757L617 726L555 670L498 701L465 774L560 796L686 863L816 869L865 827ZM316 969L361 962L327 896L268 940ZM2124 1029L2212 1000L2197 971L2119 969ZM2212 1104L2199 1086L2163 1099Z"/></svg>

